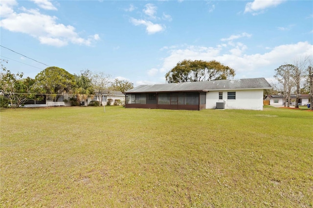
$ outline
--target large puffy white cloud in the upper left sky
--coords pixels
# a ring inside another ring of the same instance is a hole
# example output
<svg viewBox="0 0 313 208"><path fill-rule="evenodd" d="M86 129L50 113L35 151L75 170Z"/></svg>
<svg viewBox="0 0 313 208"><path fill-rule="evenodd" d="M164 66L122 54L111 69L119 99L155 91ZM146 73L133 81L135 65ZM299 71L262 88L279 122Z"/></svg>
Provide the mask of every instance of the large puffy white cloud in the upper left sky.
<svg viewBox="0 0 313 208"><path fill-rule="evenodd" d="M67 45L69 42L89 46L100 39L98 34L89 36L87 39L81 38L73 26L57 23L57 17L41 14L38 9L27 10L22 7L22 12L16 13L13 10L14 5L16 4L6 4L6 18L0 21L3 29L25 33L38 39L42 44L57 47ZM11 13L8 14L8 12Z"/></svg>

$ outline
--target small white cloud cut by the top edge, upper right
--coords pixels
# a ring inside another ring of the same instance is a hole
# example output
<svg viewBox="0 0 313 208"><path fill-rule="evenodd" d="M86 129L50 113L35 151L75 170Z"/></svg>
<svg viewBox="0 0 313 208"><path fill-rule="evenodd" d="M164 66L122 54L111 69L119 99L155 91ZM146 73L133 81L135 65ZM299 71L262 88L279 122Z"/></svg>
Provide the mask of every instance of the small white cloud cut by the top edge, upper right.
<svg viewBox="0 0 313 208"><path fill-rule="evenodd" d="M269 7L275 7L281 4L284 0L254 0L246 3L245 13L250 12L253 15L258 15L264 12Z"/></svg>

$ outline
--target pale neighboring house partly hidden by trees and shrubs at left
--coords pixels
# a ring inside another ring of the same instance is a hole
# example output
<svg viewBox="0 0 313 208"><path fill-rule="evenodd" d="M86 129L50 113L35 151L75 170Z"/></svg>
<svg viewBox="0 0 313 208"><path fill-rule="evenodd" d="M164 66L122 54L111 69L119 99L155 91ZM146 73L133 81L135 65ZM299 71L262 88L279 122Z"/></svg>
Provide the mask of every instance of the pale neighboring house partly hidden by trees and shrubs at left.
<svg viewBox="0 0 313 208"><path fill-rule="evenodd" d="M23 107L49 107L49 106L70 106L71 103L69 99L73 97L73 95L62 95L59 97L59 99L54 102L52 100L46 99L46 96L44 96L43 101L35 101L35 100L29 100L27 103L24 104ZM108 99L112 99L112 105L114 104L115 100L123 101L125 99L125 95L122 92L119 91L110 91L109 93L101 94L101 95L93 95L88 96L87 99L81 101L81 105L87 106L91 101L99 101L99 97L101 100L102 105L106 105L108 102Z"/></svg>

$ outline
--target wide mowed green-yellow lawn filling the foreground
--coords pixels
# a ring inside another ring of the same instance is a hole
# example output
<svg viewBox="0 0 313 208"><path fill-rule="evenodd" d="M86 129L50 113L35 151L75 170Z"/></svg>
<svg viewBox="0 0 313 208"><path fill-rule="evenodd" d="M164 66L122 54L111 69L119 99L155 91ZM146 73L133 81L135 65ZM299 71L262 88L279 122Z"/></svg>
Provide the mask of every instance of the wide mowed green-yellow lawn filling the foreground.
<svg viewBox="0 0 313 208"><path fill-rule="evenodd" d="M0 110L1 207L313 206L313 112Z"/></svg>

